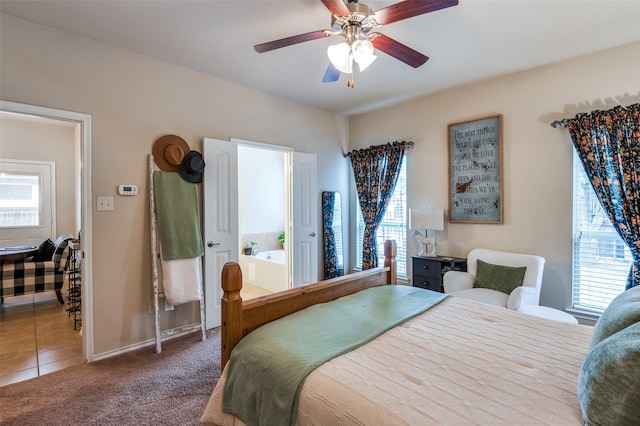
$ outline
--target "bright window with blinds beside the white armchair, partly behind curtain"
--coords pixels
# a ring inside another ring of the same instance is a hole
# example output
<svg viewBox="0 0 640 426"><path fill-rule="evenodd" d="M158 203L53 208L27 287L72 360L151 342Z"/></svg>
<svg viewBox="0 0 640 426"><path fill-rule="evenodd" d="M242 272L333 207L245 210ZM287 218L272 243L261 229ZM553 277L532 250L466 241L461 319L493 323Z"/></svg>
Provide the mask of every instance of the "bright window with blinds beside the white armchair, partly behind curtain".
<svg viewBox="0 0 640 426"><path fill-rule="evenodd" d="M599 314L622 293L631 251L611 225L573 153L573 309Z"/></svg>

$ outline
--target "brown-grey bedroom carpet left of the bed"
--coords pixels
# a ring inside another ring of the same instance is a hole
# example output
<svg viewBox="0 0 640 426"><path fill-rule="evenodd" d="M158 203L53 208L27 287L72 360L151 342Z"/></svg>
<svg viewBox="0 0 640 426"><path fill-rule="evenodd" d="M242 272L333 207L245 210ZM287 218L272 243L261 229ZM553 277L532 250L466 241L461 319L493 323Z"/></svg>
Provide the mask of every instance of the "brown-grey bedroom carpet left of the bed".
<svg viewBox="0 0 640 426"><path fill-rule="evenodd" d="M0 387L0 424L198 425L220 377L220 329Z"/></svg>

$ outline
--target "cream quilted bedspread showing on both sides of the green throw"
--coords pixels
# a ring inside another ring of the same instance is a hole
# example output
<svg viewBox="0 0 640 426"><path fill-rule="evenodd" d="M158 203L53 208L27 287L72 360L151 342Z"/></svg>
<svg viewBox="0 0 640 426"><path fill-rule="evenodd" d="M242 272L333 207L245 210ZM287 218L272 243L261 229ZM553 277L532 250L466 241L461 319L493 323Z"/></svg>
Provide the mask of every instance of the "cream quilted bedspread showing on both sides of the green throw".
<svg viewBox="0 0 640 426"><path fill-rule="evenodd" d="M306 379L299 425L581 425L592 327L451 297ZM226 370L201 421L221 412Z"/></svg>

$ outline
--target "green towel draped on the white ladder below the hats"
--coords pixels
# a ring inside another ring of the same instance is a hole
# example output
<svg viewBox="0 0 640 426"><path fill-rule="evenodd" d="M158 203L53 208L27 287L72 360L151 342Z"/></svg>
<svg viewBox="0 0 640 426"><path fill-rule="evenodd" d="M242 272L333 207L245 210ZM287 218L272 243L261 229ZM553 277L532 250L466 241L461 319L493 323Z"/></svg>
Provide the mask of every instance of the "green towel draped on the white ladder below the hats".
<svg viewBox="0 0 640 426"><path fill-rule="evenodd" d="M163 260L204 254L197 187L174 172L153 172L158 235Z"/></svg>

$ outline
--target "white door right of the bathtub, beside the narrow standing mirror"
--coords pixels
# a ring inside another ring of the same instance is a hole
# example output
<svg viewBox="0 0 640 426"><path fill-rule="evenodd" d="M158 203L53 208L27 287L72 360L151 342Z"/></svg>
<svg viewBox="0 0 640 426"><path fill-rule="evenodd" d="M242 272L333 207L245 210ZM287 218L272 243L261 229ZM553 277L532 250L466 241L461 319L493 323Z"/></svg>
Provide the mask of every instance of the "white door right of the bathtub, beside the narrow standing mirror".
<svg viewBox="0 0 640 426"><path fill-rule="evenodd" d="M293 286L318 281L318 194L315 154L293 153Z"/></svg>

